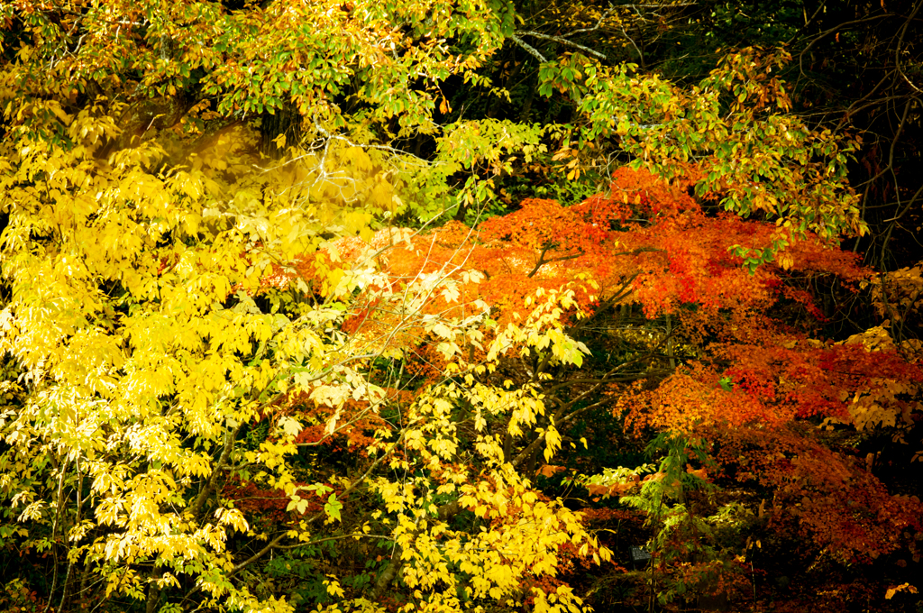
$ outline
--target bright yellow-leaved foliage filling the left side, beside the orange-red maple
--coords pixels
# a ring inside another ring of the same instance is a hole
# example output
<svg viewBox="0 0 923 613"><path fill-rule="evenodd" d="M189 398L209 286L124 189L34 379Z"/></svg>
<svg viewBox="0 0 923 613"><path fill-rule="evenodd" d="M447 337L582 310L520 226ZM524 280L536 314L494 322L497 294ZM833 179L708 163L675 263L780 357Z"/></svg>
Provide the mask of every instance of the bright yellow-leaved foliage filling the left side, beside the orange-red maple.
<svg viewBox="0 0 923 613"><path fill-rule="evenodd" d="M407 334L480 344L489 309L434 316L459 303L454 269L389 286L335 243L406 208L401 186L430 190L413 203L426 216L471 154L450 146L463 127L435 161L390 145L433 131L439 80L476 78L511 18L439 6L3 6L0 546L46 557L49 607L290 611L276 555L343 542L386 553L348 598L324 578L314 600L339 610L381 609L396 575L431 610L580 607L566 585L523 581L605 548L486 428L532 427L537 392L474 385L458 344L411 398L376 371ZM400 298L392 329L345 333L373 285ZM477 368L563 343L561 301L496 335ZM464 446L460 406L476 415ZM312 460L343 432L361 465ZM549 428L549 457L559 444Z"/></svg>

